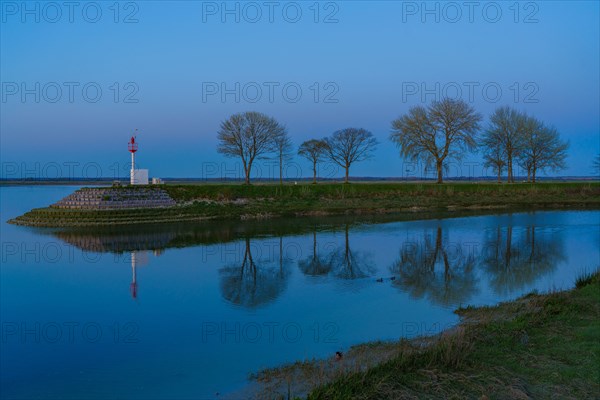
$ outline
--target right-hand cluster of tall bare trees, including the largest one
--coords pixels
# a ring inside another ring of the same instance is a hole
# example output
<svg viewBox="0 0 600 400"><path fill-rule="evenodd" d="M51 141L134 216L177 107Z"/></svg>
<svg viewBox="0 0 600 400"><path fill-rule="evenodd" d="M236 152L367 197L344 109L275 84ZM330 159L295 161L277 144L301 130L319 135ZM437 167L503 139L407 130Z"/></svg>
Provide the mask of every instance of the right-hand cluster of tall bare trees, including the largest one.
<svg viewBox="0 0 600 400"><path fill-rule="evenodd" d="M558 131L538 119L510 107L500 107L490 117L478 138L482 117L462 100L444 99L429 107L417 106L392 122L390 139L404 157L435 165L438 183L443 181L444 162L460 159L481 149L486 167L501 181L507 171L514 183L513 167L527 170L527 181L535 182L542 170L565 168L568 143Z"/></svg>

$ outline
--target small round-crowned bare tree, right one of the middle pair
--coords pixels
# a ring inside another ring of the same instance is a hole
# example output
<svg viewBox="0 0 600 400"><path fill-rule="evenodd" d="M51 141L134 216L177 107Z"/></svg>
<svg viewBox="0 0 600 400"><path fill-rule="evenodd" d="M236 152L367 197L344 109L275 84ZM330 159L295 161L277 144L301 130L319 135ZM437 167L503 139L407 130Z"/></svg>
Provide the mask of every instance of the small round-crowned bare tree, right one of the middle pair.
<svg viewBox="0 0 600 400"><path fill-rule="evenodd" d="M350 166L370 158L377 146L373 134L362 128L346 128L334 132L324 139L325 155L346 170L345 183L348 183Z"/></svg>

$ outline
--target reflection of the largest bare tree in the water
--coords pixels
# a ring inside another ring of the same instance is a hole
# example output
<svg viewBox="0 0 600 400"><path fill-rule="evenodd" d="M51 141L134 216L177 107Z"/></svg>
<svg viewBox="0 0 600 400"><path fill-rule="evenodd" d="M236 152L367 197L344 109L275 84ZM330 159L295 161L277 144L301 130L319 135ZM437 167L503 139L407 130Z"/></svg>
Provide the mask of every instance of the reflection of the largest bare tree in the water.
<svg viewBox="0 0 600 400"><path fill-rule="evenodd" d="M473 252L461 243L449 243L438 226L435 234L425 232L405 242L390 271L398 276L393 284L411 296L456 306L478 291L475 264Z"/></svg>

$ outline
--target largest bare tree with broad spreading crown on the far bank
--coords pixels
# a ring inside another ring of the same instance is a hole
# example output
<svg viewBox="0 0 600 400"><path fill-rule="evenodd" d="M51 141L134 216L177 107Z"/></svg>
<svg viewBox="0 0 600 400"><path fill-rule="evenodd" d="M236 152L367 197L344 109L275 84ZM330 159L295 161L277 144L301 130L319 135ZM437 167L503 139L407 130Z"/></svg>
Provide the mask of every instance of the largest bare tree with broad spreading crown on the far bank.
<svg viewBox="0 0 600 400"><path fill-rule="evenodd" d="M476 149L475 137L481 115L462 100L443 99L429 107L416 106L392 121L390 140L403 157L434 164L437 182L447 158L460 159L465 151Z"/></svg>

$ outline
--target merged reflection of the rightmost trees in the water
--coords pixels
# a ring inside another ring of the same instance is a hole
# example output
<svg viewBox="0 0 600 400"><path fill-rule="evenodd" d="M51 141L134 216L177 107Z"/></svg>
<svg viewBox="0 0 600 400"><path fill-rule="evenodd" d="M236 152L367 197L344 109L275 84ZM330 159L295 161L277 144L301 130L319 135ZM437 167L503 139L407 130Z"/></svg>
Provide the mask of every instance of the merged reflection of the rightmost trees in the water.
<svg viewBox="0 0 600 400"><path fill-rule="evenodd" d="M481 260L498 294L524 289L565 260L562 240L534 225L515 230L498 226L486 233Z"/></svg>

